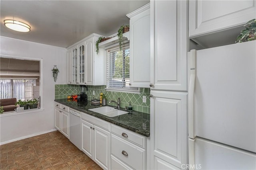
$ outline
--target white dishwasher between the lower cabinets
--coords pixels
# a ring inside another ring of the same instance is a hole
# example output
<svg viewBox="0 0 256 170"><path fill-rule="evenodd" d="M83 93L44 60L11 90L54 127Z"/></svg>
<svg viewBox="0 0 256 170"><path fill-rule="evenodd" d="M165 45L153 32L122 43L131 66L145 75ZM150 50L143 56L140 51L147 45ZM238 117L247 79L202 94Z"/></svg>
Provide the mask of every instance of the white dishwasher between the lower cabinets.
<svg viewBox="0 0 256 170"><path fill-rule="evenodd" d="M69 140L81 150L81 112L69 109Z"/></svg>

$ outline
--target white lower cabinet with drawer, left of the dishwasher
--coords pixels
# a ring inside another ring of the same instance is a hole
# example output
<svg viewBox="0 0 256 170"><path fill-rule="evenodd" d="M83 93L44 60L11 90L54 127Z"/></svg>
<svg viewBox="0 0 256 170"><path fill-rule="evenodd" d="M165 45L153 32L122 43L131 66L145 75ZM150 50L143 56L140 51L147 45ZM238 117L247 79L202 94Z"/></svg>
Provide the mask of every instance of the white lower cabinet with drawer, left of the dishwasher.
<svg viewBox="0 0 256 170"><path fill-rule="evenodd" d="M55 128L69 139L69 107L55 104Z"/></svg>

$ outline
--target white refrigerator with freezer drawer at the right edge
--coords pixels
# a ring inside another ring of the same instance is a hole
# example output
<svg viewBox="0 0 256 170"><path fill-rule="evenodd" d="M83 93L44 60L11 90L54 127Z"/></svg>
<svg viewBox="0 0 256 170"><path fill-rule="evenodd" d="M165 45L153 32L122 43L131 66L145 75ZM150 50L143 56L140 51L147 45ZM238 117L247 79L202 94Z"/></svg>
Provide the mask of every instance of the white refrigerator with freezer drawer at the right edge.
<svg viewBox="0 0 256 170"><path fill-rule="evenodd" d="M188 53L189 169L256 170L256 41Z"/></svg>

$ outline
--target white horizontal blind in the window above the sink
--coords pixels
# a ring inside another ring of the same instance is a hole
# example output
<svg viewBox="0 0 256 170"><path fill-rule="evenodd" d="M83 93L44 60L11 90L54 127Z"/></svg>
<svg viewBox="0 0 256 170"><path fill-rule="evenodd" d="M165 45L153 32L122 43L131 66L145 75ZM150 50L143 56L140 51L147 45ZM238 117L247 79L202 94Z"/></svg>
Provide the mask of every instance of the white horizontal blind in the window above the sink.
<svg viewBox="0 0 256 170"><path fill-rule="evenodd" d="M138 90L130 87L130 45L129 42L106 49L107 88Z"/></svg>

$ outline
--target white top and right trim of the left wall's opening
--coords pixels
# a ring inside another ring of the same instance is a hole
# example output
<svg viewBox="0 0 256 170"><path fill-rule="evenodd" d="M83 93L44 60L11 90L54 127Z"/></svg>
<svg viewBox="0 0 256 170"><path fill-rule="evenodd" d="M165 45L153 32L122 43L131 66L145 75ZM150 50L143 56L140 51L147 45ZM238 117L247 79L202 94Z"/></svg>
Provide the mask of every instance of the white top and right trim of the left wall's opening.
<svg viewBox="0 0 256 170"><path fill-rule="evenodd" d="M44 109L44 104L43 104L43 59L36 59L36 58L29 58L29 57L20 57L20 56L10 56L10 55L1 55L1 58L8 58L8 59L18 59L18 60L30 60L30 61L39 61L40 63L40 78L39 78L39 83L40 83L40 92L39 92L39 96L40 96L40 110ZM25 112L25 111L24 111Z"/></svg>

